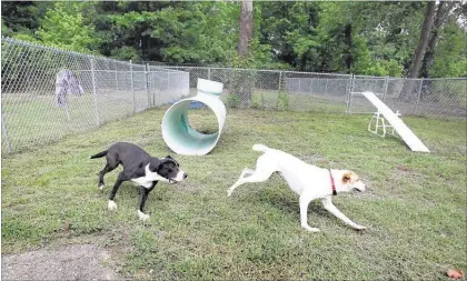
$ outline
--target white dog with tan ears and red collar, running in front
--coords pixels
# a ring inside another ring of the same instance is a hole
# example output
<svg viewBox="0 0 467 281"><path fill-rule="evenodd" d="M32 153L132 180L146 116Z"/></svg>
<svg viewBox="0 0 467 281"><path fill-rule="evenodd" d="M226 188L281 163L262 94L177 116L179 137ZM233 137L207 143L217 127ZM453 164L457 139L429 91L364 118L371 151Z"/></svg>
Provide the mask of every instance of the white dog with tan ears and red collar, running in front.
<svg viewBox="0 0 467 281"><path fill-rule="evenodd" d="M290 189L300 197L300 222L304 229L311 232L319 231L319 229L308 225L307 222L308 204L315 199L321 199L326 210L351 228L356 230L366 229L341 213L331 200L331 195L339 192L365 191L365 183L359 180L356 173L348 170L328 170L307 164L294 155L262 144L255 144L252 149L265 153L258 158L256 170L244 169L240 178L227 191L229 197L240 184L264 182L274 172L279 172Z"/></svg>

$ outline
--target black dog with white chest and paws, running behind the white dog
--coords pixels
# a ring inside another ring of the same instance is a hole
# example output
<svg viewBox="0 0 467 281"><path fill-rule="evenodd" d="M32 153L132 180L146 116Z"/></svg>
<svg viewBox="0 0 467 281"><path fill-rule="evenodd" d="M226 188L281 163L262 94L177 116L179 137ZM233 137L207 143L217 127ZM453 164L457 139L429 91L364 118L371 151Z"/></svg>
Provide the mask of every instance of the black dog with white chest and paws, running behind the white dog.
<svg viewBox="0 0 467 281"><path fill-rule="evenodd" d="M188 174L180 170L179 163L170 155L166 158L155 158L149 155L140 147L128 143L117 142L108 150L99 152L90 159L107 158L106 167L99 172L99 189L103 189L103 175L119 164L123 167L123 171L119 173L116 183L109 195L108 208L110 211L117 210L113 201L118 189L123 181L132 181L139 187L139 209L138 215L141 220L148 220L149 214L145 214L145 203L149 192L156 187L158 181L177 183L185 180Z"/></svg>

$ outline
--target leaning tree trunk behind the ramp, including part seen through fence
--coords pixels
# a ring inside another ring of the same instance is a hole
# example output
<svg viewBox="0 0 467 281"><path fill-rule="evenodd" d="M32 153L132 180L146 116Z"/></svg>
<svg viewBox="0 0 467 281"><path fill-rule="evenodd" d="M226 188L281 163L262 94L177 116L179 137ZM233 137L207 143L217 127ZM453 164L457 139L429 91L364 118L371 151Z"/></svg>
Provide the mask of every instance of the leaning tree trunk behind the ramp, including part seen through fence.
<svg viewBox="0 0 467 281"><path fill-rule="evenodd" d="M424 19L424 26L421 28L421 34L420 40L418 41L418 47L415 50L415 54L409 68L409 71L407 73L407 79L404 82L404 87L399 93L399 99L407 100L410 99L413 96L414 87L417 84L417 81L414 80L418 78L418 72L421 68L421 59L424 58L425 50L427 49L428 44L428 37L431 32L431 26L433 26L433 18L435 14L435 8L436 2L428 2L427 9L425 11L425 19Z"/></svg>

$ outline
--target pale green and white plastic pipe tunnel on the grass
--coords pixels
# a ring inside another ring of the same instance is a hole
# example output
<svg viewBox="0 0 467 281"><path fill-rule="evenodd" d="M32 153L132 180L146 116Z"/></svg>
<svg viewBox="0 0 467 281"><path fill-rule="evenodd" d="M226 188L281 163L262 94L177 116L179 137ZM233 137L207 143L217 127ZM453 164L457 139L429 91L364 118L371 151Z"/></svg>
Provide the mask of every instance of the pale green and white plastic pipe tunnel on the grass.
<svg viewBox="0 0 467 281"><path fill-rule="evenodd" d="M223 84L198 79L197 96L173 103L163 114L162 138L167 145L178 154L205 155L211 151L219 141L226 122L226 107L219 96ZM217 118L218 131L205 134L196 131L188 121L188 110L192 103L203 103Z"/></svg>

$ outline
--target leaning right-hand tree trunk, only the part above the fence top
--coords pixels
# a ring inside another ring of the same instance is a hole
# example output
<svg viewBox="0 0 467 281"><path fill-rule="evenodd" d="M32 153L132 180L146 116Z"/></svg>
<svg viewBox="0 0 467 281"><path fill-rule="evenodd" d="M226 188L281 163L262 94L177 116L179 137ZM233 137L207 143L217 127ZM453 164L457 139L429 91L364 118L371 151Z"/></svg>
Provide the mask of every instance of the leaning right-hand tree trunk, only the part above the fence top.
<svg viewBox="0 0 467 281"><path fill-rule="evenodd" d="M407 78L418 78L418 72L421 67L421 59L424 58L425 50L427 49L428 38L431 32L433 16L435 14L436 2L431 1L427 4L425 12L424 26L421 28L420 41L415 50L414 59L411 61Z"/></svg>

